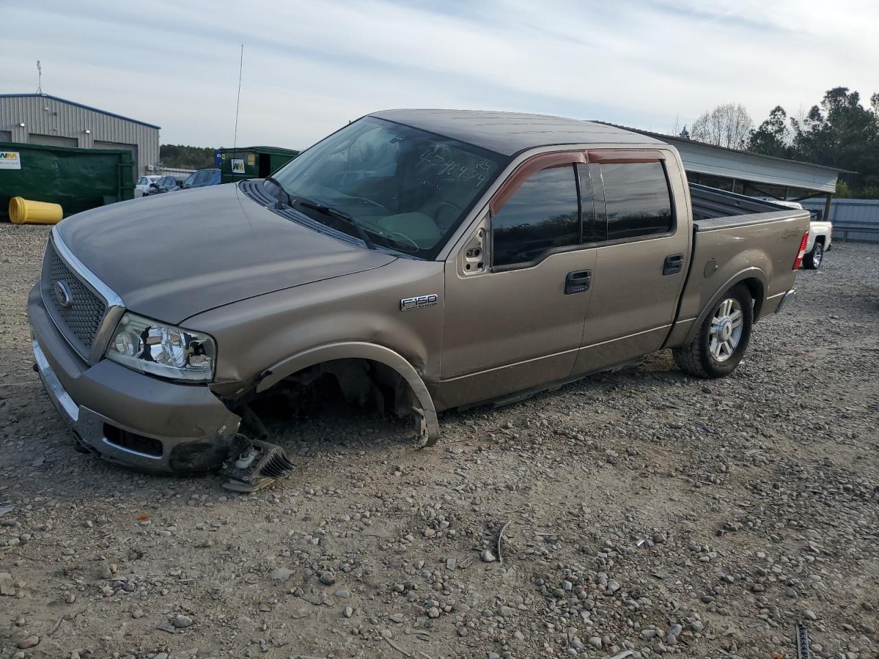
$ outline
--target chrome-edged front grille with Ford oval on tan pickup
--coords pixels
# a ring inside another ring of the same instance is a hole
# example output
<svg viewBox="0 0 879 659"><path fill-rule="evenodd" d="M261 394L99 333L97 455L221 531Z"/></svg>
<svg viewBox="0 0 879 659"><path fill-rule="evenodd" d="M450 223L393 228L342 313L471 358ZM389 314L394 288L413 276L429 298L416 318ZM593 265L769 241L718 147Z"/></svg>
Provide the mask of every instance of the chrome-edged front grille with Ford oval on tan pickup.
<svg viewBox="0 0 879 659"><path fill-rule="evenodd" d="M40 293L67 342L86 361L97 361L108 340L108 330L113 330L108 326L119 321L122 303L79 263L54 231L43 257Z"/></svg>

